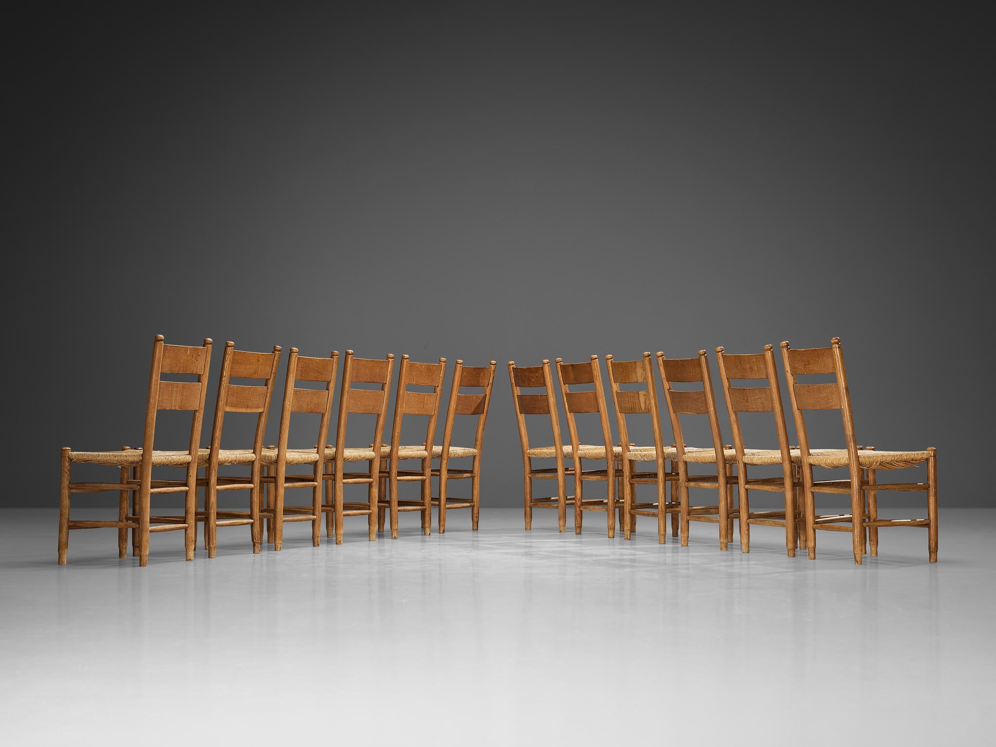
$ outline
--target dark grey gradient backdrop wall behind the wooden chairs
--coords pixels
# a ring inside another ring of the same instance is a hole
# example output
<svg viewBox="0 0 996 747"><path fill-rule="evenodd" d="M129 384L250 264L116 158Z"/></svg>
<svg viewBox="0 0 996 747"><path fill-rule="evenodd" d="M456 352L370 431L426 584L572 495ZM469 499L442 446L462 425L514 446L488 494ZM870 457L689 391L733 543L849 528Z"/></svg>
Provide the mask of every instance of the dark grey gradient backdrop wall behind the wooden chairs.
<svg viewBox="0 0 996 747"><path fill-rule="evenodd" d="M840 336L859 440L935 445L942 501L989 505L990 59L936 12L15 17L7 433L32 449L0 505L57 504L64 444L139 442L156 333L213 338L215 373L225 340L497 360L486 505L522 499L509 360Z"/></svg>

